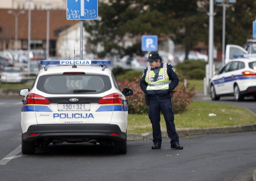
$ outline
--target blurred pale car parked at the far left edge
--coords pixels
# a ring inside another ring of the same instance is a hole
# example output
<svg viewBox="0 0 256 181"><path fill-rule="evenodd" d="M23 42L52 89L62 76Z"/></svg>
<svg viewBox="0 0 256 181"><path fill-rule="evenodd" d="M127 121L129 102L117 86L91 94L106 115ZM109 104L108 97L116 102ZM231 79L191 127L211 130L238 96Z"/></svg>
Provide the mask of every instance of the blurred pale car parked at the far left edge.
<svg viewBox="0 0 256 181"><path fill-rule="evenodd" d="M26 79L22 70L18 67L5 67L1 72L2 83L25 83Z"/></svg>

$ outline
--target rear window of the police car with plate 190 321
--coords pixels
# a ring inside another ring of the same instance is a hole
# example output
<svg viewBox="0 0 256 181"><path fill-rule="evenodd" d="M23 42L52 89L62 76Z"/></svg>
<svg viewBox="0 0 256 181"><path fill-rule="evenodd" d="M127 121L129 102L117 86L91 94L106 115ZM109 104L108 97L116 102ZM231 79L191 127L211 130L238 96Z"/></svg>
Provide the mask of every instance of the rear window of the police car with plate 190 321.
<svg viewBox="0 0 256 181"><path fill-rule="evenodd" d="M45 75L36 88L47 94L99 94L110 90L111 82L104 75Z"/></svg>

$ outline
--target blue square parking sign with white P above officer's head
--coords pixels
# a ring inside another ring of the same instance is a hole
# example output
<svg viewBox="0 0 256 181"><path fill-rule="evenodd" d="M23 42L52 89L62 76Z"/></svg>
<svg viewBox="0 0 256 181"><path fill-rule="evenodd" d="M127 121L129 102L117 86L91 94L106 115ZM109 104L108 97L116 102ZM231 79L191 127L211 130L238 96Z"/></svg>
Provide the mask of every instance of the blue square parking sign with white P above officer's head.
<svg viewBox="0 0 256 181"><path fill-rule="evenodd" d="M141 50L143 52L157 51L158 40L156 35L143 35L141 37Z"/></svg>

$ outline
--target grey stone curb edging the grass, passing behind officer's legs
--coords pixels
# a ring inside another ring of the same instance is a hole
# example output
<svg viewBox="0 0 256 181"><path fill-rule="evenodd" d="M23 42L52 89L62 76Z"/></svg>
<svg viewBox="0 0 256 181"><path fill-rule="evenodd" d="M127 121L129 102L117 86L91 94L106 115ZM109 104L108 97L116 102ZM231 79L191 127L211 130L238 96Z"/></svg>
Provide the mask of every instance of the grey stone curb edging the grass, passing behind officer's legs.
<svg viewBox="0 0 256 181"><path fill-rule="evenodd" d="M188 135L201 135L201 134L241 133L241 132L249 132L249 131L256 131L256 124L230 126L230 127L176 130L179 137L188 136ZM162 130L161 133L162 133L162 138L168 138L167 132L165 130ZM152 132L142 133L142 134L127 134L128 141L152 140L152 139L153 139ZM255 170L255 181L256 181L256 170Z"/></svg>

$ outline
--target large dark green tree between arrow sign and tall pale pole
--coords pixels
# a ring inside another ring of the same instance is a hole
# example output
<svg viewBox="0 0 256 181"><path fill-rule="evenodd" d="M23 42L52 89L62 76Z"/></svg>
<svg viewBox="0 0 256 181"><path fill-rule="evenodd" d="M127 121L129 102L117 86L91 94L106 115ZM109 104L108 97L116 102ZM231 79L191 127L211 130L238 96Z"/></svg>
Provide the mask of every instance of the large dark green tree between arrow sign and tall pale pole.
<svg viewBox="0 0 256 181"><path fill-rule="evenodd" d="M204 40L207 15L199 11L197 0L109 0L100 2L99 20L86 21L89 42L104 50L99 56L111 54L142 54L138 38L131 47L124 48L124 36L130 38L155 34L159 41L171 37L175 43L186 45L186 52L199 40ZM202 18L202 14L205 18ZM205 22L206 21L206 22Z"/></svg>

